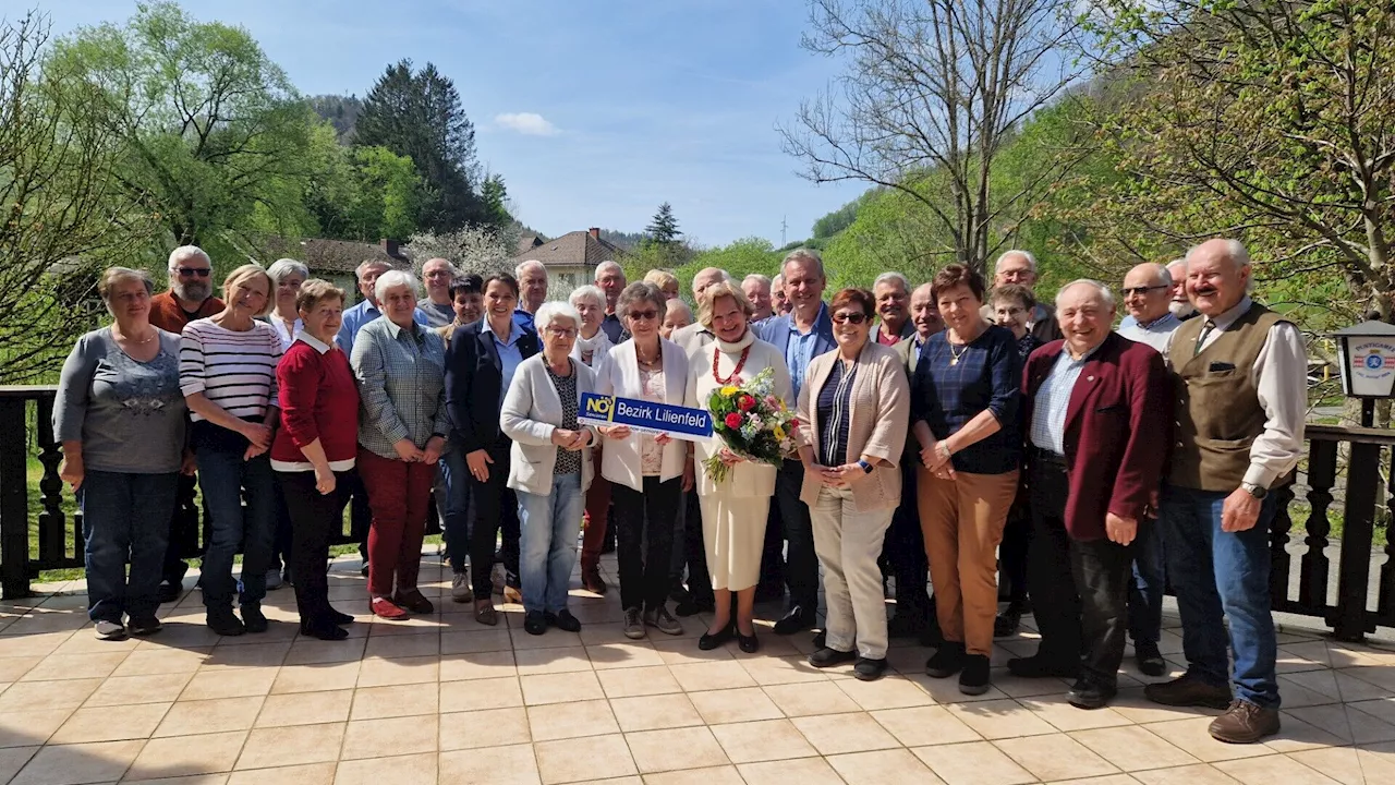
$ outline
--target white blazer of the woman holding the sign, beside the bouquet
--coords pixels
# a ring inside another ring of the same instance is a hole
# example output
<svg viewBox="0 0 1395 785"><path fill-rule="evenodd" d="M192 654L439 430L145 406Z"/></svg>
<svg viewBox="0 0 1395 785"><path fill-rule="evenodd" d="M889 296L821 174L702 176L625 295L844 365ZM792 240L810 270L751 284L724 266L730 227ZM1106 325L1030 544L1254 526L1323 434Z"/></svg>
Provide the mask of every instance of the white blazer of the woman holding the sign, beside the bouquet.
<svg viewBox="0 0 1395 785"><path fill-rule="evenodd" d="M664 356L664 402L682 406L688 399L688 355L672 341L660 338L658 345ZM596 367L597 394L619 395L622 398L642 397L639 359L635 356L635 341L629 339L605 353L605 358ZM633 432L628 439L604 437L605 441L601 447L601 476L643 493L642 437L643 434ZM665 444L658 479L667 482L682 475L686 460L686 441L675 439Z"/></svg>

